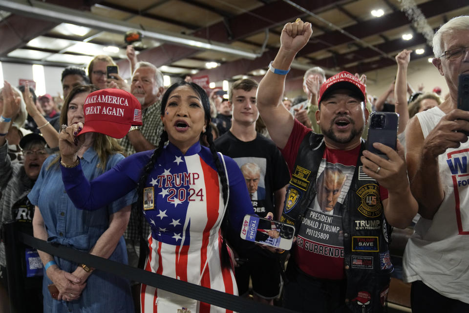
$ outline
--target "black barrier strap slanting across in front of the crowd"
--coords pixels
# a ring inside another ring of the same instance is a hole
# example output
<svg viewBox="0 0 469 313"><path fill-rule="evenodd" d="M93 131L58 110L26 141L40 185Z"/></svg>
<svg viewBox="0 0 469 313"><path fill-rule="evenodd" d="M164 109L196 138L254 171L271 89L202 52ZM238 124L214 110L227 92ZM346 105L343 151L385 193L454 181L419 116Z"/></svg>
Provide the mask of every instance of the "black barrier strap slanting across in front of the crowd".
<svg viewBox="0 0 469 313"><path fill-rule="evenodd" d="M276 306L269 306L258 303L252 300L241 298L239 296L177 280L168 276L156 274L141 268L134 268L116 261L111 261L82 251L78 251L68 246L48 243L20 231L12 232L12 230L9 229L10 227L14 227L14 223L3 224L3 234L6 235L6 238L3 238L5 247L14 245L16 240L14 238L8 238L8 234L16 233L16 237L19 242L51 255L70 260L78 264L84 263L89 267L103 270L117 276L125 277L131 281L140 282L157 289L176 293L201 302L210 303L211 305L232 310L234 312L295 312Z"/></svg>

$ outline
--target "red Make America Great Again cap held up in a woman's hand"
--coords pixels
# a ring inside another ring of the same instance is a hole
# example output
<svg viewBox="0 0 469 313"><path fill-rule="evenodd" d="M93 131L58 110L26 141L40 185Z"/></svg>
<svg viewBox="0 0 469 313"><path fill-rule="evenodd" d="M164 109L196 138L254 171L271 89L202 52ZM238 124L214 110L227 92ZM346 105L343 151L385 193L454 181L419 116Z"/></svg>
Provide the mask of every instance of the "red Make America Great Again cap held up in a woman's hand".
<svg viewBox="0 0 469 313"><path fill-rule="evenodd" d="M83 106L85 125L80 134L89 132L123 138L130 126L142 125L142 107L126 90L108 88L88 94Z"/></svg>

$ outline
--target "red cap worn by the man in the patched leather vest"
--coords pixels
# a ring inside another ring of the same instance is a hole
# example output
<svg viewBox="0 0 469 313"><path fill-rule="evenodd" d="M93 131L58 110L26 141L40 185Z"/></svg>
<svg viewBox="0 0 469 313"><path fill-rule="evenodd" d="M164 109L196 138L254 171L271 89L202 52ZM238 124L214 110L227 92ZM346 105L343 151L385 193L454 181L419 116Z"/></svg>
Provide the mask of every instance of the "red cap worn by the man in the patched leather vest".
<svg viewBox="0 0 469 313"><path fill-rule="evenodd" d="M361 97L362 101L366 101L366 87L362 84L362 81L355 77L355 75L343 71L329 77L324 83L322 83L321 88L319 89L318 103L321 102L324 96L337 89L350 89L357 91L357 95Z"/></svg>

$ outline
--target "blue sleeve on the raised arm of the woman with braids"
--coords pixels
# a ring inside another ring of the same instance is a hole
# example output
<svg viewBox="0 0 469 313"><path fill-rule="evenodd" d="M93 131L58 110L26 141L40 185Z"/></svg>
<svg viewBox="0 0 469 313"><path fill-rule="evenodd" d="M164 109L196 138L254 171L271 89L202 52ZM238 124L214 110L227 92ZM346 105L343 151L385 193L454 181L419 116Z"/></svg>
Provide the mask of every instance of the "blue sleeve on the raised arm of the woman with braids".
<svg viewBox="0 0 469 313"><path fill-rule="evenodd" d="M107 206L137 187L149 153L128 156L91 182L85 178L81 164L73 168L61 165L62 180L68 197L77 208L83 210L93 211Z"/></svg>

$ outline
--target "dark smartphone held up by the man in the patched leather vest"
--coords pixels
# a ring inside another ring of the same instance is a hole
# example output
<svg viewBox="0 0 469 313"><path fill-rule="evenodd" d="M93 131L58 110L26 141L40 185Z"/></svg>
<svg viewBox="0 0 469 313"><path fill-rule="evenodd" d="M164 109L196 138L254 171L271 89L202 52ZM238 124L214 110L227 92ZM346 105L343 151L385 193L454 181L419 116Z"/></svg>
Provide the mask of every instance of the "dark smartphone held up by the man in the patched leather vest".
<svg viewBox="0 0 469 313"><path fill-rule="evenodd" d="M373 143L380 142L396 150L399 114L395 112L373 112L370 115L369 125L366 150L388 159L383 152L373 147Z"/></svg>

